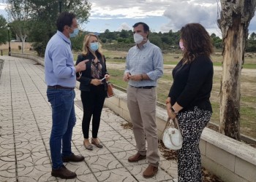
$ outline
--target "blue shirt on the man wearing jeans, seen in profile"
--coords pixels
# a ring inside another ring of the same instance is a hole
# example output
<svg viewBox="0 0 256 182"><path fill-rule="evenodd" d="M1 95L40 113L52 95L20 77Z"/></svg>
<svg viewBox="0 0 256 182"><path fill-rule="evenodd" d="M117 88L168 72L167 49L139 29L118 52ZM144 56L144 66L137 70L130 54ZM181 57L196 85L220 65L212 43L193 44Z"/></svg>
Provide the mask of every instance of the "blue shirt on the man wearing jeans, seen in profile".
<svg viewBox="0 0 256 182"><path fill-rule="evenodd" d="M71 41L60 31L50 39L45 50L45 82L49 86L75 87Z"/></svg>

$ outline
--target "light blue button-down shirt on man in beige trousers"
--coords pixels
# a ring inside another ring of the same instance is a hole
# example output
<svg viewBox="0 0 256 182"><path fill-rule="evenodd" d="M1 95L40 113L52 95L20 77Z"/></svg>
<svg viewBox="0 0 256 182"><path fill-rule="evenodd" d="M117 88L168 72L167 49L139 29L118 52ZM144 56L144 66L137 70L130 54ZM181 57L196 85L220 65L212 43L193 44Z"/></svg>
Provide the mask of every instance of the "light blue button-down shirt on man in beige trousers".
<svg viewBox="0 0 256 182"><path fill-rule="evenodd" d="M163 74L162 51L150 41L142 47L135 45L129 49L124 73L147 74L150 80L133 81L128 84L134 87L157 86L157 79Z"/></svg>

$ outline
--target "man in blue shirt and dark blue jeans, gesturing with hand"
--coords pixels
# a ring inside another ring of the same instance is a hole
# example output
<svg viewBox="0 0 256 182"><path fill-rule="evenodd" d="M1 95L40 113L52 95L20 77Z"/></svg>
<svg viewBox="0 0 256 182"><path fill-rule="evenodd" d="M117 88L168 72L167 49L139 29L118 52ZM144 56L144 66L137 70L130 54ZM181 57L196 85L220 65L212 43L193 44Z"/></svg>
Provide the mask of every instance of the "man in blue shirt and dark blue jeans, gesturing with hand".
<svg viewBox="0 0 256 182"><path fill-rule="evenodd" d="M59 178L75 178L77 175L63 162L81 162L84 157L71 151L72 130L75 126L76 72L86 69L86 60L74 66L70 36L78 34L78 22L74 14L62 12L56 22L58 31L48 41L45 50L45 82L47 96L52 107L53 125L50 133L50 155L53 163L51 175ZM62 152L61 152L62 143Z"/></svg>

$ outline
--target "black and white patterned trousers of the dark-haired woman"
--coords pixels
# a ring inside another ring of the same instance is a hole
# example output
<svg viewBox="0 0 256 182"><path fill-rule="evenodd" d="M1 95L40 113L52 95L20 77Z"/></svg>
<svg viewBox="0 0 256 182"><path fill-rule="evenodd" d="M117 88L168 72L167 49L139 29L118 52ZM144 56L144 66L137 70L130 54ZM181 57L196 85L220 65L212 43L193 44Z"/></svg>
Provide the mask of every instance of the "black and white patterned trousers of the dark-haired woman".
<svg viewBox="0 0 256 182"><path fill-rule="evenodd" d="M210 121L211 112L195 106L194 111L181 112L177 117L184 140L182 148L178 150L178 181L201 182L199 141L203 128Z"/></svg>

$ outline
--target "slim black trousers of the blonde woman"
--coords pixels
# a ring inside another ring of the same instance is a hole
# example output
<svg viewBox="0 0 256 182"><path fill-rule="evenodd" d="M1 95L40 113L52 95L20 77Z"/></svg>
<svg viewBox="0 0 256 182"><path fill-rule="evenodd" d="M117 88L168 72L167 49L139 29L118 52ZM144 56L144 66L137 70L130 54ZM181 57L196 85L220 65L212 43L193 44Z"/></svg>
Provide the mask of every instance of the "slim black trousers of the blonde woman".
<svg viewBox="0 0 256 182"><path fill-rule="evenodd" d="M92 138L97 138L99 131L100 116L106 97L104 85L91 85L90 91L81 91L81 99L83 103L83 138L89 138L89 127L92 117Z"/></svg>

